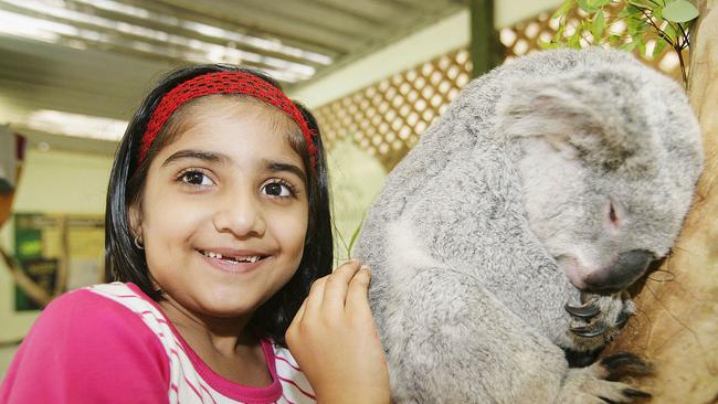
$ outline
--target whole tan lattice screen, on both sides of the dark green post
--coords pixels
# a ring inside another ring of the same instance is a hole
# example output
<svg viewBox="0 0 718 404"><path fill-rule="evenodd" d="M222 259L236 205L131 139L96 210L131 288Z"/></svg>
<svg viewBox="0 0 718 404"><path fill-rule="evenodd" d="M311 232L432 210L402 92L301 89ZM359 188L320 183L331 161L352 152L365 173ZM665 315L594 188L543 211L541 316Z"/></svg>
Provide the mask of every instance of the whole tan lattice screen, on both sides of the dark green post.
<svg viewBox="0 0 718 404"><path fill-rule="evenodd" d="M609 10L619 11L620 8ZM540 50L539 40L551 40L559 26L551 14L545 12L501 29L499 41L505 46L505 61ZM578 24L580 17L579 13L569 15L567 25ZM625 24L613 29L622 33ZM567 28L566 32L570 34L571 30ZM584 44L588 45L585 41ZM680 79L675 53L666 47L653 57L653 47L648 43L648 55L638 56L646 64ZM468 83L471 71L468 51L461 49L315 109L327 148L330 150L337 140L350 138L391 170Z"/></svg>

